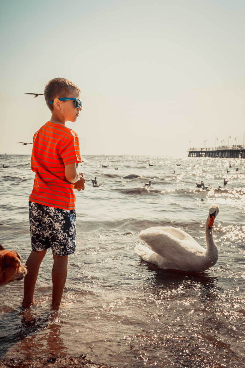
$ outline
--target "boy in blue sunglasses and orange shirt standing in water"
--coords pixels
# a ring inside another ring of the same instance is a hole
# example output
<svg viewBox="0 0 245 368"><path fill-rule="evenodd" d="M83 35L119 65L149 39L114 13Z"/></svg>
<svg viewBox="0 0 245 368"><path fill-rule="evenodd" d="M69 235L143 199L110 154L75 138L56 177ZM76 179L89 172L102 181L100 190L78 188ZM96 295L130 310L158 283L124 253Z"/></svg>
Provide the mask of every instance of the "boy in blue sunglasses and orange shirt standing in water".
<svg viewBox="0 0 245 368"><path fill-rule="evenodd" d="M84 190L85 180L76 167L81 162L78 135L65 123L76 121L82 110L79 92L78 86L64 78L51 79L44 89L51 119L33 137L31 167L36 175L29 197L32 251L26 261L24 307L34 303L39 267L50 247L54 258L52 308L60 307L68 255L75 252L76 196L73 189Z"/></svg>

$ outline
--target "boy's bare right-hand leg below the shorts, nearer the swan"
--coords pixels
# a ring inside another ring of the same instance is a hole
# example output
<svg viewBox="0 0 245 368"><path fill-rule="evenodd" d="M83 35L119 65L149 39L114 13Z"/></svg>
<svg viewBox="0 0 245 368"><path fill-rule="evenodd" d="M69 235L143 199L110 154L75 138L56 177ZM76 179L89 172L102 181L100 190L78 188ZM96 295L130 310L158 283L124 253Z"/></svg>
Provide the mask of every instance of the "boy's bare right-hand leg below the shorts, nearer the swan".
<svg viewBox="0 0 245 368"><path fill-rule="evenodd" d="M68 272L68 255L58 256L54 255L54 265L52 269L53 281L53 298L52 308L57 310L60 308L61 298L63 295L66 276Z"/></svg>

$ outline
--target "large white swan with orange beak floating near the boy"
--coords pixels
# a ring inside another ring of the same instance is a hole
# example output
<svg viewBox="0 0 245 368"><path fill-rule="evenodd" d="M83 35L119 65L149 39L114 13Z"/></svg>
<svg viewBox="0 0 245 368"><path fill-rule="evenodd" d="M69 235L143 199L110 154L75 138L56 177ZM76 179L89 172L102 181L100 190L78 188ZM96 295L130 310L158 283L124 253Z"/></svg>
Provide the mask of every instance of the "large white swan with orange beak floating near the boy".
<svg viewBox="0 0 245 368"><path fill-rule="evenodd" d="M207 249L201 247L185 231L172 226L149 227L141 231L139 238L151 249L139 243L136 243L134 249L144 261L154 263L159 268L203 272L215 265L218 259L212 235L213 222L218 213L217 204L210 206L205 227Z"/></svg>

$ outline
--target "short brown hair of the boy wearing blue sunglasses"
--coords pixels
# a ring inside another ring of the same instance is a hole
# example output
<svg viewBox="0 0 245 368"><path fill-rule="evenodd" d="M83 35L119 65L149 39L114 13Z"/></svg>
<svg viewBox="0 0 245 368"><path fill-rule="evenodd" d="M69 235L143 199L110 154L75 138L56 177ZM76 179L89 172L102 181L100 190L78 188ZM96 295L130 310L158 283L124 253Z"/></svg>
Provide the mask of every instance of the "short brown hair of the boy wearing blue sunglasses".
<svg viewBox="0 0 245 368"><path fill-rule="evenodd" d="M50 101L53 101L55 98L71 97L72 94L74 94L73 97L76 97L79 96L80 92L80 88L68 79L54 78L46 84L44 98L48 108L53 111L54 104L50 104Z"/></svg>

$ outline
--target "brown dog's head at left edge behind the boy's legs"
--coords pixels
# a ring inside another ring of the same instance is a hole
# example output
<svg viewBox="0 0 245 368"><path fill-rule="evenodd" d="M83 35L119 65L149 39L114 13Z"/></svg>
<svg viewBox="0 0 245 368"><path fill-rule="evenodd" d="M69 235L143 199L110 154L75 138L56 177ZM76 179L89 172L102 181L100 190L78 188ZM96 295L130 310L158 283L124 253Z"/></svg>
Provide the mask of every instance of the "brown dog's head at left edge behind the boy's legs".
<svg viewBox="0 0 245 368"><path fill-rule="evenodd" d="M21 264L21 256L15 251L7 251L0 245L0 286L14 280L21 280L27 273Z"/></svg>

